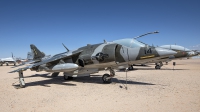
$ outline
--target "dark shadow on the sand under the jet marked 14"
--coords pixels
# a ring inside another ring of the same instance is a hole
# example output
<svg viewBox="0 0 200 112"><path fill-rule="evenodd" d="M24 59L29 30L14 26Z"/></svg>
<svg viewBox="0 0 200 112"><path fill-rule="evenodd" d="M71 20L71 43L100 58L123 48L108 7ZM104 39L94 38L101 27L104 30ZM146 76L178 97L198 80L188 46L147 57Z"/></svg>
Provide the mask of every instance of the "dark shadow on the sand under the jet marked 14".
<svg viewBox="0 0 200 112"><path fill-rule="evenodd" d="M104 84L100 80L99 76L101 76L101 75L91 75L90 77L88 77L88 76L80 77L80 78L73 80L73 82ZM51 77L50 74L34 74L31 76L26 76L24 78L32 78L32 77L44 77L45 80L28 82L28 83L26 83L26 85L28 87L31 87L31 86L51 87L51 84L58 84L58 85L64 85L64 86L77 86L76 84L73 84L73 82L71 82L70 80L64 80L61 76L54 78L54 77ZM130 81L130 80L125 82L125 80L118 80L116 78L112 79L112 83L121 83L121 84L128 83L131 85L155 85L152 83ZM18 84L13 84L12 86L14 86L16 89L18 89L18 87L19 87Z"/></svg>

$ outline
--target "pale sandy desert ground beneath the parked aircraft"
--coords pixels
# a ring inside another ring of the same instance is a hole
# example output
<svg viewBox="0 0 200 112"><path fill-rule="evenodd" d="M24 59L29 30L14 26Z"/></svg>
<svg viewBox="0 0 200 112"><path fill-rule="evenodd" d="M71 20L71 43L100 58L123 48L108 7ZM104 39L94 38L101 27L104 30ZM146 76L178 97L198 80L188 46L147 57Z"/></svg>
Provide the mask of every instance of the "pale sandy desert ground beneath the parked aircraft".
<svg viewBox="0 0 200 112"><path fill-rule="evenodd" d="M176 62L173 70L172 62ZM0 66L1 112L200 112L200 58L175 60L156 70L154 64L116 71L111 84L100 71L64 80L60 73L24 72L26 87L17 89L14 68ZM16 68L15 68L16 69Z"/></svg>

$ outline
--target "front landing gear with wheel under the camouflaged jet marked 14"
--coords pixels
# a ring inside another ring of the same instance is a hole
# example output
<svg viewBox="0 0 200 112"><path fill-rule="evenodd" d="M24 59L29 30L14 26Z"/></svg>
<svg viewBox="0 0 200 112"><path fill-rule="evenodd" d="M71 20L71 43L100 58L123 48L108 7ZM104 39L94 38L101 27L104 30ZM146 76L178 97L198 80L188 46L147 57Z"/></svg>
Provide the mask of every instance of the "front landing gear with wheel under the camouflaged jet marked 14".
<svg viewBox="0 0 200 112"><path fill-rule="evenodd" d="M108 69L110 70L110 75L104 74L102 76L102 80L104 83L111 83L111 78L115 76L115 71L111 67L109 67Z"/></svg>

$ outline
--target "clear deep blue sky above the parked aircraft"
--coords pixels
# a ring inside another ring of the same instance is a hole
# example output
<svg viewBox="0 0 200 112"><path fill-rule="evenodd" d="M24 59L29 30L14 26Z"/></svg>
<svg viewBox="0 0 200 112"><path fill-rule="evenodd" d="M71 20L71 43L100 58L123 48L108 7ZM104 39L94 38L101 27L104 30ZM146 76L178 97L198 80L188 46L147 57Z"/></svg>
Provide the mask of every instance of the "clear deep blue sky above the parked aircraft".
<svg viewBox="0 0 200 112"><path fill-rule="evenodd" d="M0 58L132 38L200 49L199 0L0 0ZM193 47L192 47L193 46Z"/></svg>

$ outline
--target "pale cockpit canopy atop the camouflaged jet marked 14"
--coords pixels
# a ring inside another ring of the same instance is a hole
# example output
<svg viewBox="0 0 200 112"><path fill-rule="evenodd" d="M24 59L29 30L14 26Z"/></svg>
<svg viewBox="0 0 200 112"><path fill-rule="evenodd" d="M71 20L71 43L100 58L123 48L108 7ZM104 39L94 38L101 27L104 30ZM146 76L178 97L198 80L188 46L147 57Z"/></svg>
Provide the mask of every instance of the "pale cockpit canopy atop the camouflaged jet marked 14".
<svg viewBox="0 0 200 112"><path fill-rule="evenodd" d="M136 47L145 47L145 44L138 42L135 39L120 39L113 41L114 43L124 45L126 47L136 48Z"/></svg>

